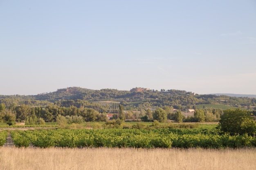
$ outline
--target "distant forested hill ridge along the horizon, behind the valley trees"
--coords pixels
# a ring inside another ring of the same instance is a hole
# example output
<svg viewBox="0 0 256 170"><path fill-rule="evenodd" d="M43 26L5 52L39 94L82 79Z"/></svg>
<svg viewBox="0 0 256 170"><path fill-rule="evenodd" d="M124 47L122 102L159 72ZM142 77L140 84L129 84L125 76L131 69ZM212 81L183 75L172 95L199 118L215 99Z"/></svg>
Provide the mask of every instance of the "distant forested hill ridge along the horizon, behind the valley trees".
<svg viewBox="0 0 256 170"><path fill-rule="evenodd" d="M70 101L70 102L67 102ZM147 108L173 106L192 108L197 105L222 104L232 107L255 108L256 98L229 97L227 95L198 95L180 90L149 90L146 88L133 88L131 91L116 89L91 90L80 87L58 89L51 93L38 95L0 95L0 103L7 106L11 104L28 104L31 106L44 106L51 103L61 103L62 106L74 105L77 101L90 103L118 102L127 108ZM65 105L63 104L65 102Z"/></svg>

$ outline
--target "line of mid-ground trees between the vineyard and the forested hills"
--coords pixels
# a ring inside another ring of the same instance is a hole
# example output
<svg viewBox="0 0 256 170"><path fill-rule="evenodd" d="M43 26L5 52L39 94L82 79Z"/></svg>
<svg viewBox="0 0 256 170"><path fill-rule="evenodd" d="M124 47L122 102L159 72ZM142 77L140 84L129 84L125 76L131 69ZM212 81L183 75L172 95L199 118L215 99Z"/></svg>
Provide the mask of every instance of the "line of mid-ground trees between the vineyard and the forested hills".
<svg viewBox="0 0 256 170"><path fill-rule="evenodd" d="M181 111L173 112L173 107L164 106L151 111L150 108L139 111L125 110L124 106L119 104L117 113L113 114L113 118L119 118L122 121L126 119L141 119L142 121L164 122L167 119L176 122L203 122L203 121L218 121L223 110L221 109L198 109L194 117L184 117ZM14 124L15 122L23 122L26 124L44 124L44 122L56 122L58 116L66 117L71 123L81 123L82 121L107 121L107 113L100 113L95 108L88 108L83 105L77 106L59 106L58 104L34 107L22 104L16 107L5 106L0 104L0 122ZM72 121L70 121L72 120Z"/></svg>

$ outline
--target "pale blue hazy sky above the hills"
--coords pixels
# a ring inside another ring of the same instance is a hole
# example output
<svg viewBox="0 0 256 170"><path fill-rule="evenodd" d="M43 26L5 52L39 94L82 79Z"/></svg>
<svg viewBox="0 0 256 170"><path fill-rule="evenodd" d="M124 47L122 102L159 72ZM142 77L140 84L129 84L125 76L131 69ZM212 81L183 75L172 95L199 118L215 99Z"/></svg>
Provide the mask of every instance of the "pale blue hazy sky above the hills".
<svg viewBox="0 0 256 170"><path fill-rule="evenodd" d="M0 95L256 95L256 0L0 0Z"/></svg>

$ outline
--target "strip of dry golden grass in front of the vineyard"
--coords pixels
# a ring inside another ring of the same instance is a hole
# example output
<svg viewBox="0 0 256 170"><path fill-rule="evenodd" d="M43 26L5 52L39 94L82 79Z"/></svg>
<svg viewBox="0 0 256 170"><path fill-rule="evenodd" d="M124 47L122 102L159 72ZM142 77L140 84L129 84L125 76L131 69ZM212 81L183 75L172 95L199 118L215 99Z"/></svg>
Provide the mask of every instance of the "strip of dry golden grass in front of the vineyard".
<svg viewBox="0 0 256 170"><path fill-rule="evenodd" d="M256 148L5 148L0 170L255 170Z"/></svg>

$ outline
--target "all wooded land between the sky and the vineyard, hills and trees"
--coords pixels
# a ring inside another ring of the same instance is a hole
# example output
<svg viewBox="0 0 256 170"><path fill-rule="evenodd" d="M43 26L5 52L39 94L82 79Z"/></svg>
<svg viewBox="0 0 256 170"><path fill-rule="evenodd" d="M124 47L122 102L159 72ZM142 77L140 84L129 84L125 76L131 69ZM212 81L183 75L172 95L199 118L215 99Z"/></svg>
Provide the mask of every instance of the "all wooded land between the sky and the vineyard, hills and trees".
<svg viewBox="0 0 256 170"><path fill-rule="evenodd" d="M0 123L81 124L83 121L107 121L117 117L122 121L218 121L227 108L242 108L256 115L255 103L256 98L198 95L179 90L133 88L119 91L70 87L38 95L1 95ZM195 109L195 114L187 116L186 109L189 108ZM110 124L119 123L117 120Z"/></svg>

